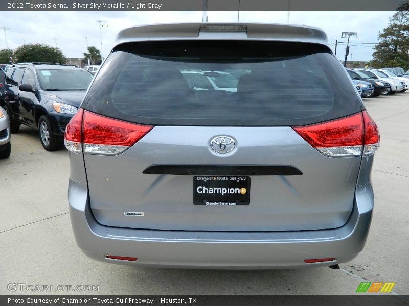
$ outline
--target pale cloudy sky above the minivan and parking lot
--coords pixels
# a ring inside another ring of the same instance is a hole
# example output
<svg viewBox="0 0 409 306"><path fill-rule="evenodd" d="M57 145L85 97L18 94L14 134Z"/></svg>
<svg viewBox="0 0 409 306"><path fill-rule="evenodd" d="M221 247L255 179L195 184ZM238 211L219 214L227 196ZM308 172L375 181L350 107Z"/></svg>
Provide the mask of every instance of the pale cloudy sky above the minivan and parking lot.
<svg viewBox="0 0 409 306"><path fill-rule="evenodd" d="M388 24L394 12L291 12L290 23L322 28L330 44L346 41L341 32L358 32L352 43L376 43L377 35ZM209 22L236 22L237 12L208 12ZM0 27L7 30L9 48L26 43L43 43L57 47L66 57L82 57L88 45L100 48L99 23L102 27L102 52L107 54L116 34L133 25L201 22L202 12L7 12L2 14ZM287 23L287 12L240 12L240 22ZM353 61L369 61L373 45L351 46ZM4 33L0 32L0 48L5 48ZM337 57L344 60L345 45L338 45ZM350 60L350 57L348 57Z"/></svg>

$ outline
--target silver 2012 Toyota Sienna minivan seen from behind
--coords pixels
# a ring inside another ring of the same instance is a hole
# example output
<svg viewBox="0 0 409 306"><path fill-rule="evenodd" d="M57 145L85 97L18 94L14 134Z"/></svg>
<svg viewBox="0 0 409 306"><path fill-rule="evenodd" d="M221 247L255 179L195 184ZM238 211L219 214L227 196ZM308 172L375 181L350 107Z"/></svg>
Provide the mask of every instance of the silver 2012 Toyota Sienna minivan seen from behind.
<svg viewBox="0 0 409 306"><path fill-rule="evenodd" d="M229 73L236 90L196 90L182 71ZM75 239L96 260L330 266L366 242L379 133L317 28L125 29L65 146Z"/></svg>

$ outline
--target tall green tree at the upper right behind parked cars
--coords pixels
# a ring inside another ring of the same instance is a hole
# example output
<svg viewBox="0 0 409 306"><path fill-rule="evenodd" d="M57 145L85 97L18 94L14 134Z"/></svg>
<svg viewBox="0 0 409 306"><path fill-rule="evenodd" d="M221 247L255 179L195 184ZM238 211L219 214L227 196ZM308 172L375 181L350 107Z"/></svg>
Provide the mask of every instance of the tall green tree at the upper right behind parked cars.
<svg viewBox="0 0 409 306"><path fill-rule="evenodd" d="M409 68L409 2L402 4L379 33L370 66Z"/></svg>

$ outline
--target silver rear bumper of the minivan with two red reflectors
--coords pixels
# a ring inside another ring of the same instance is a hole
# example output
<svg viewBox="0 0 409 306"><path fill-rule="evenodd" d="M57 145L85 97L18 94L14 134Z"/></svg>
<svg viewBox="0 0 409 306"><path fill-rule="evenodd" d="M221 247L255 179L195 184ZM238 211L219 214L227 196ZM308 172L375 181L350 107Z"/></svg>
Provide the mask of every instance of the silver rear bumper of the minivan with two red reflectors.
<svg viewBox="0 0 409 306"><path fill-rule="evenodd" d="M70 179L70 217L77 245L90 258L174 268L283 269L348 262L365 245L372 217L371 184L358 186L352 214L339 228L290 232L189 232L116 228L96 222L87 185ZM105 255L137 257L135 262ZM305 259L336 258L306 264Z"/></svg>

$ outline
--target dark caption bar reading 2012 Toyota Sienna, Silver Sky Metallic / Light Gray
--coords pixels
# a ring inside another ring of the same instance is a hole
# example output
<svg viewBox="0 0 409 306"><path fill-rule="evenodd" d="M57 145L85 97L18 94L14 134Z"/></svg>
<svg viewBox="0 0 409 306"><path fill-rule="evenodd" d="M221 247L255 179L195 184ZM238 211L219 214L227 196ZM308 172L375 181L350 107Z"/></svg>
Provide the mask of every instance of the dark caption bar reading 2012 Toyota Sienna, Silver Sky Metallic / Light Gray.
<svg viewBox="0 0 409 306"><path fill-rule="evenodd" d="M205 2L206 3L206 2ZM208 0L207 11L396 11L402 0ZM203 11L203 0L7 0L1 11Z"/></svg>

